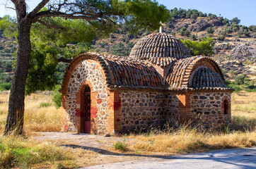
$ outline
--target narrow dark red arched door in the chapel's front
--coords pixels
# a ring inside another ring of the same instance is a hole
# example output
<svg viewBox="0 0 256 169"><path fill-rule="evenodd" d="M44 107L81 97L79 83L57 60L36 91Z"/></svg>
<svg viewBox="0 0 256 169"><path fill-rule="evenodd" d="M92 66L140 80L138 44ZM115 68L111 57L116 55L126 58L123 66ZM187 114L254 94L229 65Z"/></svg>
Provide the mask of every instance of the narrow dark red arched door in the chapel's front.
<svg viewBox="0 0 256 169"><path fill-rule="evenodd" d="M91 132L91 89L88 86L84 91L84 132Z"/></svg>

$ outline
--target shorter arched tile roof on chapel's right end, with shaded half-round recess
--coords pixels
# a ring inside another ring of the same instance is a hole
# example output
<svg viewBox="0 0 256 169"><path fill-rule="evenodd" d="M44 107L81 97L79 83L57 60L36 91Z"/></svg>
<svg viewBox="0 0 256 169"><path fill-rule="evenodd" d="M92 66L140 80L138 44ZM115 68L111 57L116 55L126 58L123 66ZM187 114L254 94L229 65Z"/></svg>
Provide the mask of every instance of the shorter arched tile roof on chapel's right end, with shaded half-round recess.
<svg viewBox="0 0 256 169"><path fill-rule="evenodd" d="M190 82L191 78L192 82ZM170 89L184 87L193 87L194 89L201 89L202 87L226 88L219 66L206 56L193 56L176 61L165 79L165 87Z"/></svg>

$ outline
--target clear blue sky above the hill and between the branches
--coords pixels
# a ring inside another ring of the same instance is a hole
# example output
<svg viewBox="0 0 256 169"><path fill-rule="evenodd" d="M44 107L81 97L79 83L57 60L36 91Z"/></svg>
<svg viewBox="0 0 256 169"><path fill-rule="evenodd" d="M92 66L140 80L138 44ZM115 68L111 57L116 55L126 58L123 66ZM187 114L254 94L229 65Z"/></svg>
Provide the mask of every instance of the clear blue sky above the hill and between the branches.
<svg viewBox="0 0 256 169"><path fill-rule="evenodd" d="M15 16L16 13L10 8L6 8L7 0L0 0L0 17L4 15ZM8 6L11 1L8 0ZM30 10L40 2L40 0L27 0ZM168 9L184 8L197 9L203 13L221 14L223 18L229 20L238 17L241 20L240 25L256 25L256 0L158 0Z"/></svg>

